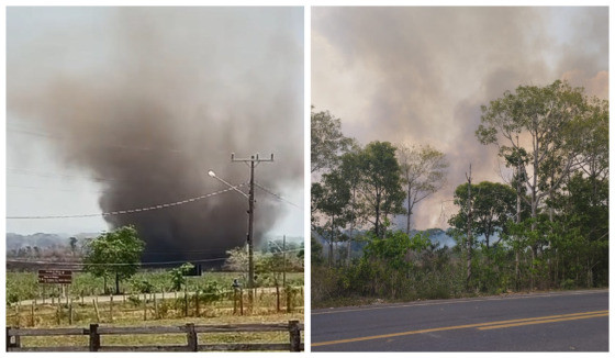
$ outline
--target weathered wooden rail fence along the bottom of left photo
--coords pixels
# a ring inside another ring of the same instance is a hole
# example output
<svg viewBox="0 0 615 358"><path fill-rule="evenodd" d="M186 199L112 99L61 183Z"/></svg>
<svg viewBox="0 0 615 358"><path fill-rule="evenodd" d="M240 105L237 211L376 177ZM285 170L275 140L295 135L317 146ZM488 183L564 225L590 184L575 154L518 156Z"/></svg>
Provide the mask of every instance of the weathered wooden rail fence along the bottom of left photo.
<svg viewBox="0 0 615 358"><path fill-rule="evenodd" d="M13 328L7 327L7 351L221 351L221 350L304 350L301 343L303 324L299 321L279 324L150 326L150 327L104 327L90 324L89 328ZM244 333L244 332L288 332L289 343L246 344L199 344L199 333ZM185 334L186 345L150 346L102 346L101 335L159 335ZM89 346L22 347L25 336L89 336Z"/></svg>

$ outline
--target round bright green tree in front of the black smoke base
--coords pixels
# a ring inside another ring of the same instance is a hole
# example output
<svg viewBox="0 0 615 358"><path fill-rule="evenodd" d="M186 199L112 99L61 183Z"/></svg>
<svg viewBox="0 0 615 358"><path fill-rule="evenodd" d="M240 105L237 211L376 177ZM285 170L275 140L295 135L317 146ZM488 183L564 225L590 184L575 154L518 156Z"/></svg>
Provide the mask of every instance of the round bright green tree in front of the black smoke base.
<svg viewBox="0 0 615 358"><path fill-rule="evenodd" d="M136 273L144 248L145 243L138 238L134 226L122 226L89 242L83 269L96 277L114 277L119 294L120 281Z"/></svg>

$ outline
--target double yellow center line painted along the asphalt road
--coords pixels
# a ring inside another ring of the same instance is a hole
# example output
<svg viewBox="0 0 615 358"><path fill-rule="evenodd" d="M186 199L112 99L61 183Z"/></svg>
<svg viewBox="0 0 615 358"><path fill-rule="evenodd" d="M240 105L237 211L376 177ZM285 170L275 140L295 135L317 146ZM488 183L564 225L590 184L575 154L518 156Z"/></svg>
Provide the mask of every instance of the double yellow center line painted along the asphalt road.
<svg viewBox="0 0 615 358"><path fill-rule="evenodd" d="M594 316L599 317L599 316L603 316L603 315L608 315L608 310L593 311L593 312L579 312L579 313L569 313L569 314L557 314L557 315L543 316L543 317L483 322L483 323L465 324L465 325L459 325L459 326L436 327L436 328L426 328L426 329L417 329L417 331L390 333L390 334L367 336L367 337L356 337L356 338L347 338L347 339L318 342L318 343L313 343L312 347L338 345L338 344L343 344L343 343L353 343L353 342L361 342L361 340L392 338L392 337L409 336L409 335L431 333L431 332L441 332L441 331L452 331L452 329L463 329L463 328L477 328L477 327L484 327L484 326L502 327L503 328L505 325L508 325L508 324L517 324L517 325L538 324L538 323L548 323L549 321L558 322L558 321L567 321L567 320L582 320L582 318L591 318L591 317L594 317ZM558 321L555 321L555 320L558 320Z"/></svg>

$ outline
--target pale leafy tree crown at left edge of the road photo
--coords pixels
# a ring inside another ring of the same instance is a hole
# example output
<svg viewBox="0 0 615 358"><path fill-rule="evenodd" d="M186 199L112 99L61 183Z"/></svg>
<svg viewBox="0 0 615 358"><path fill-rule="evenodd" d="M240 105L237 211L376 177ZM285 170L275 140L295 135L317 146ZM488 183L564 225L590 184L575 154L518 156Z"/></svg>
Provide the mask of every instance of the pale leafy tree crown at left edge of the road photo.
<svg viewBox="0 0 615 358"><path fill-rule="evenodd" d="M311 113L312 172L333 168L342 152L353 143L342 134L342 122L328 111Z"/></svg>

